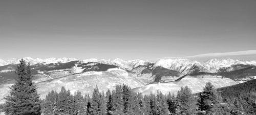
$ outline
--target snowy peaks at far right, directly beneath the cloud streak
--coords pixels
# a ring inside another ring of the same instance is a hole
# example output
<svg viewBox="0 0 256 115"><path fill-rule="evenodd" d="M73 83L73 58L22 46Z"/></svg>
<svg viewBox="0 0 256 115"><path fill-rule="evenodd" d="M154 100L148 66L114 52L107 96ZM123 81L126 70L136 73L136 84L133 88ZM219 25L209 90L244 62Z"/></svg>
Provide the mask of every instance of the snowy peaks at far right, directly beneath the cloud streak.
<svg viewBox="0 0 256 115"><path fill-rule="evenodd" d="M212 73L218 72L220 68L230 67L232 65L243 64L243 65L256 65L256 61L244 61L244 60L233 60L233 59L210 59L206 61L203 66Z"/></svg>

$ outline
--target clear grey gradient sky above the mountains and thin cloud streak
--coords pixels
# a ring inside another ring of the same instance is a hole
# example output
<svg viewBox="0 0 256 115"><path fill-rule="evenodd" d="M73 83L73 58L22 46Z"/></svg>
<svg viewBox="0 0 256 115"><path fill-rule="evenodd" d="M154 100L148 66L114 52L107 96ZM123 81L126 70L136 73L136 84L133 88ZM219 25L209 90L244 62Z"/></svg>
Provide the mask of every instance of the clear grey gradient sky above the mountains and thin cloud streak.
<svg viewBox="0 0 256 115"><path fill-rule="evenodd" d="M0 59L256 50L255 0L1 0Z"/></svg>

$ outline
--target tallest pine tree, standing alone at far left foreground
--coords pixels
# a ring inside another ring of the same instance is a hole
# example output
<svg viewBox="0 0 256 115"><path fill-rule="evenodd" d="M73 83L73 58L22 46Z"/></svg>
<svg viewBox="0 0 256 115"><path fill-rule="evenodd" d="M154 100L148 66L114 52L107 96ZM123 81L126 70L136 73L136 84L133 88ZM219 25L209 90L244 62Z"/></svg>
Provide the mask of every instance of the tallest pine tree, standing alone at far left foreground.
<svg viewBox="0 0 256 115"><path fill-rule="evenodd" d="M40 114L40 99L36 86L32 82L30 65L25 60L19 61L16 74L16 83L11 86L10 95L6 99L6 114Z"/></svg>

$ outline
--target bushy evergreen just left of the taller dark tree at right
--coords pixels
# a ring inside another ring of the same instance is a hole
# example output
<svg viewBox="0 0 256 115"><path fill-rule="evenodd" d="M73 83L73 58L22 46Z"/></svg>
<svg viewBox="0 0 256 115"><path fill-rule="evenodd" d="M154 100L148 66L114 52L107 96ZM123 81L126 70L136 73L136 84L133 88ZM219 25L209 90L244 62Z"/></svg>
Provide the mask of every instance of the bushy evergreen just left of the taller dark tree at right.
<svg viewBox="0 0 256 115"><path fill-rule="evenodd" d="M180 91L178 91L177 102L177 114L193 115L197 113L196 100L187 86L181 87Z"/></svg>

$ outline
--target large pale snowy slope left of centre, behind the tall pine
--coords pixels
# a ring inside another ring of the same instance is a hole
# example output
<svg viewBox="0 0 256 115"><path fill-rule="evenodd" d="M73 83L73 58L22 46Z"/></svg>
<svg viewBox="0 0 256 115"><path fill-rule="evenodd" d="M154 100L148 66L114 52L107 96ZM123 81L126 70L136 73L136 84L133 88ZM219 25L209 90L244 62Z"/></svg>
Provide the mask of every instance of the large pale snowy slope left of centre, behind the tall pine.
<svg viewBox="0 0 256 115"><path fill-rule="evenodd" d="M65 74L65 72L62 72L62 74ZM92 94L91 91L93 91L96 86L98 86L100 90L107 91L108 89L114 89L116 85L127 84L135 88L146 84L146 82L137 78L135 74L130 74L120 68L110 68L107 71L100 72L93 71L69 74L52 78L41 74L37 75L37 78L38 79L34 79L33 82L35 82L38 87L37 91L41 98L44 98L48 94L48 91L52 89L59 91L61 86L70 89L71 93L79 90L82 94ZM0 100L9 94L9 86L13 83L14 81L9 81L0 84ZM0 102L4 102L4 100Z"/></svg>

